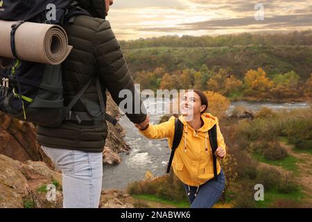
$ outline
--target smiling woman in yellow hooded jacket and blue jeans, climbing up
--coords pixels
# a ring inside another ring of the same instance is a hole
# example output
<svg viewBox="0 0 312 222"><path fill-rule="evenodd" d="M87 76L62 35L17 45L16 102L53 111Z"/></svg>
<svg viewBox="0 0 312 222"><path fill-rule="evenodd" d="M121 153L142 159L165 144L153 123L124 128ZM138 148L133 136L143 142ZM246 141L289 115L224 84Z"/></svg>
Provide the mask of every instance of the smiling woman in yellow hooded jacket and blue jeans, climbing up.
<svg viewBox="0 0 312 222"><path fill-rule="evenodd" d="M183 135L173 157L173 171L183 183L192 208L212 207L225 187L225 176L217 160L217 180L214 179L213 155L224 158L225 142L220 132L218 119L205 111L208 101L199 90L188 90L182 97ZM212 153L208 131L216 124L218 148ZM175 117L168 121L146 127L136 125L139 132L150 139L168 138L172 147L175 132Z"/></svg>

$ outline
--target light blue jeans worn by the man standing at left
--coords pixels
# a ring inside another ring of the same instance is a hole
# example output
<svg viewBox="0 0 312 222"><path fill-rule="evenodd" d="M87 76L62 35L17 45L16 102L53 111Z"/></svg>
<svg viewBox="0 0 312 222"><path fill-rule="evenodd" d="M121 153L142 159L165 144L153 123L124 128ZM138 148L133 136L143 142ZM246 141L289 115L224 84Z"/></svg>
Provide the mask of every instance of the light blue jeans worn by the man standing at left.
<svg viewBox="0 0 312 222"><path fill-rule="evenodd" d="M103 178L102 153L88 153L42 146L62 171L64 208L98 208Z"/></svg>

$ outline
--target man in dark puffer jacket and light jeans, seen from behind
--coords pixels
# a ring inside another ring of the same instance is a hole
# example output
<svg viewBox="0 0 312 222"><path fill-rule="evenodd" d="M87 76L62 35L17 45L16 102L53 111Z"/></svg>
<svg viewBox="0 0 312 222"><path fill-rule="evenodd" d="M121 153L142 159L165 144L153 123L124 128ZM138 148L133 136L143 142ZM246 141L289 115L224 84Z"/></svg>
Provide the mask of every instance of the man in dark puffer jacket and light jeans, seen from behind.
<svg viewBox="0 0 312 222"><path fill-rule="evenodd" d="M123 53L110 23L105 16L113 0L77 0L80 8L91 16L79 15L65 26L69 44L73 50L64 63L65 105L78 94L80 89L94 76L100 78L103 101L108 89L112 99L119 105L122 89L132 92L133 107L135 87ZM81 99L73 106L73 112L88 112L88 105L99 103L96 81L88 87ZM101 97L100 97L101 99ZM141 106L142 101L139 102ZM147 126L148 118L144 105L139 114L125 113L133 123ZM64 207L98 207L102 177L102 151L107 137L105 121L79 121L68 119L59 128L37 126L37 142L51 157L55 166L62 170Z"/></svg>

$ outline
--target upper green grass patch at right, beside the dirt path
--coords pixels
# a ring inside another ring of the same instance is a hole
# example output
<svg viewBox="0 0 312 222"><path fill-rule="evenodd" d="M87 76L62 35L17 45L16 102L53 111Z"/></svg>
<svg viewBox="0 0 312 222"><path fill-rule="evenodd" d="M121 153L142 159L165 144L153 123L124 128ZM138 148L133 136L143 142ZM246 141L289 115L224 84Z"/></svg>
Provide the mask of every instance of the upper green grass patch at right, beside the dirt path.
<svg viewBox="0 0 312 222"><path fill-rule="evenodd" d="M255 160L258 160L259 162L264 162L266 164L274 165L277 167L283 167L287 171L293 171L294 173L297 172L297 159L292 156L288 155L288 157L284 158L283 160L268 160L266 157L263 157L263 155L253 153L252 157L254 157Z"/></svg>

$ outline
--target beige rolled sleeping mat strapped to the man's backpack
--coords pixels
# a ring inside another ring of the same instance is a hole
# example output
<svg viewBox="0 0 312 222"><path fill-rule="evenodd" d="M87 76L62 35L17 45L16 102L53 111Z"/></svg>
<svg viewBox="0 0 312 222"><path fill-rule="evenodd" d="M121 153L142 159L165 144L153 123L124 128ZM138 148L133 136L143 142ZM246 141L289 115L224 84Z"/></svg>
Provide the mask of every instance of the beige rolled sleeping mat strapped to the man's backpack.
<svg viewBox="0 0 312 222"><path fill-rule="evenodd" d="M14 58L10 46L12 24L16 22L0 20L1 57ZM21 60L58 65L71 49L64 28L58 25L25 22L15 32L15 52Z"/></svg>

